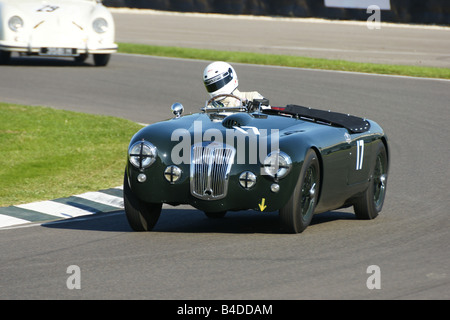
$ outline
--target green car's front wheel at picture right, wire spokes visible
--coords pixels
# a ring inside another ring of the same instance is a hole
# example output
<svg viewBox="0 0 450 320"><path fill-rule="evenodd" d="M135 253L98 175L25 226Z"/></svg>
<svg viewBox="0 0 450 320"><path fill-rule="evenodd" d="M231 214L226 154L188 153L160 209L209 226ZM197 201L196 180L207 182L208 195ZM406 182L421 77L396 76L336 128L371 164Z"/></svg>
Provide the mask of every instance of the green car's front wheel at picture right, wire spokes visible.
<svg viewBox="0 0 450 320"><path fill-rule="evenodd" d="M303 232L311 223L320 190L320 164L309 150L291 198L280 209L281 228L288 233Z"/></svg>

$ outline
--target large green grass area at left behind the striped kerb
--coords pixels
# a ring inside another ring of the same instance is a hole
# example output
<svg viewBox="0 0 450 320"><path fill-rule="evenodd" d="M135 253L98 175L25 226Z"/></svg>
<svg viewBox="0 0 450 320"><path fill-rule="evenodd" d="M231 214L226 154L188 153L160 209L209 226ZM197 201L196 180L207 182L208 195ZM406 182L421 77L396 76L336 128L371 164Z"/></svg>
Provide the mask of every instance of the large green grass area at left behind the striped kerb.
<svg viewBox="0 0 450 320"><path fill-rule="evenodd" d="M142 126L120 118L0 103L0 206L123 183Z"/></svg>

